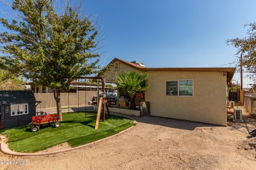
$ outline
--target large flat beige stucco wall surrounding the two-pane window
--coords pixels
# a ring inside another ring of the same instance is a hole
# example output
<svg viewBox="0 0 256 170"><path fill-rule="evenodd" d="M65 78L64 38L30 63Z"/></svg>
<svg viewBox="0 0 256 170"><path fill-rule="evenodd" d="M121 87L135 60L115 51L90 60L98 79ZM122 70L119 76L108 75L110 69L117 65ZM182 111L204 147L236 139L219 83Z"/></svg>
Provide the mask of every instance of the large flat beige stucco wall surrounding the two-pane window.
<svg viewBox="0 0 256 170"><path fill-rule="evenodd" d="M149 71L146 101L151 115L227 125L226 76L221 72ZM165 83L194 80L194 96L166 96Z"/></svg>

